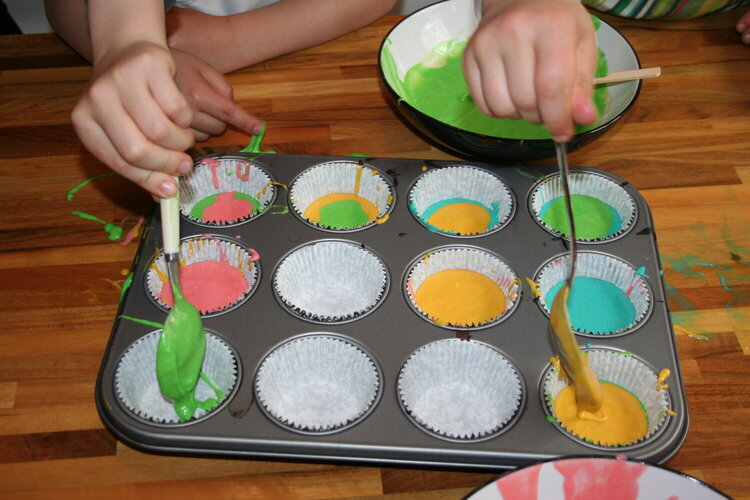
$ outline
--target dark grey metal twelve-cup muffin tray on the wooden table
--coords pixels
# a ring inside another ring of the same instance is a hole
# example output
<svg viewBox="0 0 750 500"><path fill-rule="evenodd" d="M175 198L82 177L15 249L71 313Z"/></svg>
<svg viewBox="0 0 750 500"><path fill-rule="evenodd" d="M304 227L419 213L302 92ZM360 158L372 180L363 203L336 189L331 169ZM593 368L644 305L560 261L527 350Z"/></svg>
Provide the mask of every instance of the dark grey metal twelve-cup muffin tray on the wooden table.
<svg viewBox="0 0 750 500"><path fill-rule="evenodd" d="M282 154L225 153L210 155L242 157L266 169L276 181L289 185L304 169L329 161L360 162L379 170L393 183L395 206L389 219L365 230L331 233L316 229L286 214L266 213L245 224L230 227L200 226L181 221L182 237L209 233L241 241L260 255L260 282L241 306L224 314L204 318L206 329L225 340L238 356L238 381L228 402L207 418L195 422L162 425L146 421L123 407L114 387L114 372L120 356L153 327L122 319L128 315L163 322L166 313L146 291L144 280L151 259L160 250L158 208L142 236L132 271L104 354L96 387L96 403L102 420L120 440L134 447L174 454L223 455L248 458L316 460L461 469L507 469L563 455L612 455L650 462L664 462L680 447L688 427L688 409L673 340L672 323L662 279L656 234L650 210L638 191L610 173L585 167L571 171L597 172L621 185L636 203L637 219L621 237L596 244L580 244L579 251L592 250L619 257L634 268L644 267L651 289L653 308L644 324L622 336L579 337L580 345L609 347L632 352L656 371L671 370L668 380L670 408L657 434L646 442L624 448L602 449L572 439L548 421L540 397L540 383L551 351L547 341L547 317L530 293L522 288L519 303L504 321L489 328L467 332L439 327L420 318L408 305L402 291L404 272L423 252L445 245L472 245L501 256L522 278L533 277L551 257L567 251L564 239L545 231L528 210L534 184L552 166L497 167L481 162L432 161L396 158L354 158ZM410 213L408 190L425 169L470 165L495 173L515 198L515 213L501 230L476 238L451 238L425 229ZM287 202L279 191L275 204ZM372 313L351 322L316 324L290 314L277 301L271 275L279 260L304 243L346 239L365 245L386 263L390 289ZM376 406L361 422L339 432L315 435L284 428L268 418L254 401L254 377L263 359L282 341L307 332L331 332L354 339L366 347L382 372L382 393ZM524 396L509 428L490 439L457 442L435 436L418 427L403 411L396 391L397 374L417 348L438 339L459 337L478 340L502 351L517 367Z"/></svg>

